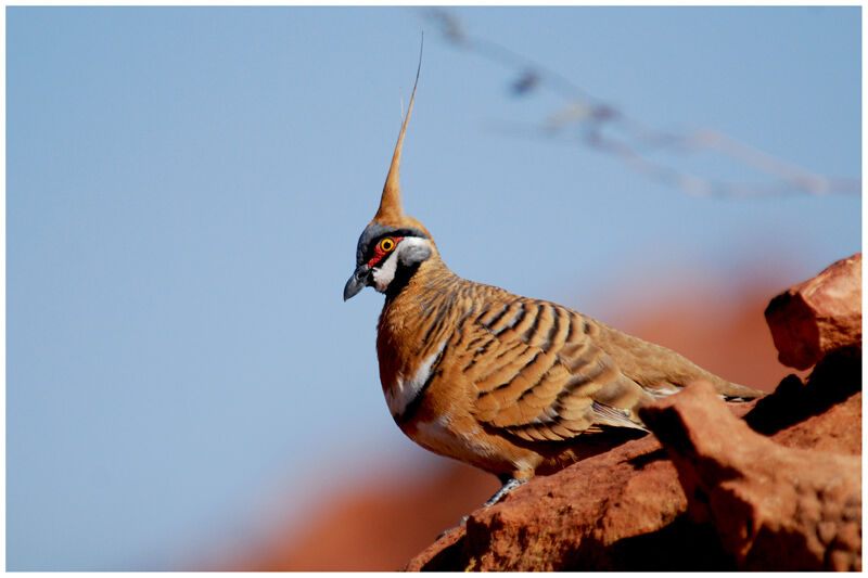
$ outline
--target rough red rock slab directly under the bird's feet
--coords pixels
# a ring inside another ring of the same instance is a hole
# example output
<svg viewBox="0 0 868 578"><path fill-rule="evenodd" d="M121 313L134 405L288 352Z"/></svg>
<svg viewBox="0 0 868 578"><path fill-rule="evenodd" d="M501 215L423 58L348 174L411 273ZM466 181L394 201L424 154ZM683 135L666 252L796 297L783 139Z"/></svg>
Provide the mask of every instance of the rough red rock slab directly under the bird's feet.
<svg viewBox="0 0 868 578"><path fill-rule="evenodd" d="M739 413L753 403L733 404ZM470 516L406 570L726 569L653 436L537 477ZM680 553L661 548L679 544ZM729 569L735 569L731 566Z"/></svg>

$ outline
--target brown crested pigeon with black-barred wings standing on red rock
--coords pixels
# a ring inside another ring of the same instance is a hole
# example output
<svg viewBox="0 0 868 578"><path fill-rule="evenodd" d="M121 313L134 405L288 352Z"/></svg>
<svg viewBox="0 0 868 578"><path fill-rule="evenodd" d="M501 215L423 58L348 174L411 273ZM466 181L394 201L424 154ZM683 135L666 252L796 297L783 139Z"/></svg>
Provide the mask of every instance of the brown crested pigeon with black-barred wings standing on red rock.
<svg viewBox="0 0 868 578"><path fill-rule="evenodd" d="M455 274L401 204L420 70L421 56L380 206L344 286L344 301L368 286L385 295L380 381L404 434L496 475L500 489L484 504L492 505L536 475L647 435L638 409L693 381L729 400L765 395L569 307Z"/></svg>

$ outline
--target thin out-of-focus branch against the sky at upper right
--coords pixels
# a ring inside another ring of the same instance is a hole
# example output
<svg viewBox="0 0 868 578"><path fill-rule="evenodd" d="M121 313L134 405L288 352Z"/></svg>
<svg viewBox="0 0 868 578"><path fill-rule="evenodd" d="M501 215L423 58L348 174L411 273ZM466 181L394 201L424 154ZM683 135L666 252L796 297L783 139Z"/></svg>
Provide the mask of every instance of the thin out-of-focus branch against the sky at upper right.
<svg viewBox="0 0 868 578"><path fill-rule="evenodd" d="M591 95L569 78L522 56L496 42L473 37L463 23L445 9L425 9L424 16L437 26L444 38L458 49L498 62L515 74L511 92L525 95L547 89L564 99L561 110L538 124L493 125L496 130L522 137L565 139L610 154L640 175L700 197L782 195L861 192L860 179L832 178L750 146L714 129L663 131L629 118L617 107ZM575 129L575 130L569 130ZM652 152L694 153L712 151L771 177L767 184L736 183L699 177L656 163Z"/></svg>

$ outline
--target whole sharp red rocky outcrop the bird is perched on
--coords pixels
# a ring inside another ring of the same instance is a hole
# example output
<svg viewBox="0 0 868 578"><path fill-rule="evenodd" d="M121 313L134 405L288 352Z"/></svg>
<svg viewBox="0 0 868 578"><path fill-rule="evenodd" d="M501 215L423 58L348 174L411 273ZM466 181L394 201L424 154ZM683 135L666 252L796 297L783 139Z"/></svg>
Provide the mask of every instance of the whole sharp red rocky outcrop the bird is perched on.
<svg viewBox="0 0 868 578"><path fill-rule="evenodd" d="M773 395L735 404L691 385L643 410L653 436L533 479L405 569L860 569L856 261L839 261L769 306L773 332L799 336L776 337L781 359L816 363L804 383L791 375ZM787 326L780 311L804 311L787 299L814 312L791 313L803 329ZM803 337L806 317L813 342Z"/></svg>

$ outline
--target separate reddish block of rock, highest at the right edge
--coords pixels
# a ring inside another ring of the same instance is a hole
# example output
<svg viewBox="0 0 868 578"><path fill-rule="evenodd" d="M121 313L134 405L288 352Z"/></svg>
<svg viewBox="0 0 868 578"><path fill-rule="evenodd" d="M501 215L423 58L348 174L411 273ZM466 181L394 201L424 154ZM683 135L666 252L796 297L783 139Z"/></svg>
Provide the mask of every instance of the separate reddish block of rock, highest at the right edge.
<svg viewBox="0 0 868 578"><path fill-rule="evenodd" d="M765 316L786 365L807 369L840 348L857 348L860 355L861 253L781 293Z"/></svg>

